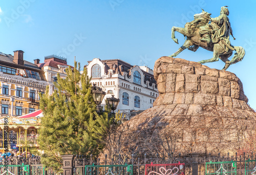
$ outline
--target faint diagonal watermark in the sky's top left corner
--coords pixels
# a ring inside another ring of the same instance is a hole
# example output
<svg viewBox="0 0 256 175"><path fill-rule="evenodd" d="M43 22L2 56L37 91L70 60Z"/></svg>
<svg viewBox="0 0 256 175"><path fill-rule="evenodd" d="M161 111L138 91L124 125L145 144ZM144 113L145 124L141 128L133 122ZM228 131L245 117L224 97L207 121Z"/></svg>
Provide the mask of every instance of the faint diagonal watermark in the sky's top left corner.
<svg viewBox="0 0 256 175"><path fill-rule="evenodd" d="M19 1L20 5L16 9L11 9L11 15L5 16L4 20L7 27L10 27L12 23L15 22L20 16L24 15L25 11L30 8L31 4L34 3L36 0L22 0ZM29 15L27 15L29 16Z"/></svg>

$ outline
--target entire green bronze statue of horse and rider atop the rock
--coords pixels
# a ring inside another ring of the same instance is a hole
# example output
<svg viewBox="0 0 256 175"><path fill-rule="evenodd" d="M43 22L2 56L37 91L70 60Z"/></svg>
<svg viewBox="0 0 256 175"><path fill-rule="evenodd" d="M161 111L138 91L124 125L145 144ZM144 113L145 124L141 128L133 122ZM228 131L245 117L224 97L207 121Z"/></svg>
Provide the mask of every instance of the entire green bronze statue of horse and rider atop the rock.
<svg viewBox="0 0 256 175"><path fill-rule="evenodd" d="M203 9L202 9L203 10ZM180 52L185 49L196 51L202 47L208 51L214 52L214 57L206 60L199 61L200 63L218 61L219 58L225 62L226 70L230 64L237 63L244 58L245 51L241 46L232 46L229 41L229 34L232 34L232 28L229 23L229 11L225 7L221 7L220 16L211 18L210 13L205 12L195 14L194 20L185 24L185 28L173 27L172 39L178 43L175 38L175 31L187 37L185 43L179 48L177 52L169 57L176 57ZM209 21L211 20L211 23ZM233 39L236 39L233 37ZM232 51L236 51L231 61L228 58L232 55Z"/></svg>

